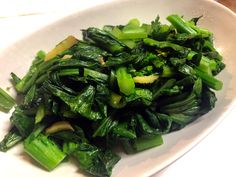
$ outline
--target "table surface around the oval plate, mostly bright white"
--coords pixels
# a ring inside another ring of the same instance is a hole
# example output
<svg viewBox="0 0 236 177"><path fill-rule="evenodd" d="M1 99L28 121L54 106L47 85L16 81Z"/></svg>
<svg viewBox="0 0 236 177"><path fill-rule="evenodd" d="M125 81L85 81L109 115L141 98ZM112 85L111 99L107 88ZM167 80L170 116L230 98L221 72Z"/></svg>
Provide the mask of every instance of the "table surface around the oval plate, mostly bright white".
<svg viewBox="0 0 236 177"><path fill-rule="evenodd" d="M68 5L79 4L79 6L70 5L66 9L62 1L56 0L8 0L4 3L0 1L0 49L28 32L47 25L60 16L63 17L68 13L68 8L72 12L106 1L109 0L81 0L79 2L68 0L66 1ZM236 12L236 0L218 0L218 2ZM57 7L60 8L55 9L55 3L59 4ZM47 6L42 6L43 4ZM25 27L29 22L30 29ZM232 143L236 135L235 115L236 109L232 110L231 114L191 151L153 177L235 177L236 143Z"/></svg>

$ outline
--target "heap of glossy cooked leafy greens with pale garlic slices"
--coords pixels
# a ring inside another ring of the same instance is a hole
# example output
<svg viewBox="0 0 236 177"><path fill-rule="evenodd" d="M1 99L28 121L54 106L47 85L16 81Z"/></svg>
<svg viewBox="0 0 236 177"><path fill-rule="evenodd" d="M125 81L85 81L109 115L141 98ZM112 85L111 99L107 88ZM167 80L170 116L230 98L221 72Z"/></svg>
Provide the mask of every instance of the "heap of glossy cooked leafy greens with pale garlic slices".
<svg viewBox="0 0 236 177"><path fill-rule="evenodd" d="M106 177L120 149L163 144L163 134L212 110L213 90L223 86L215 76L225 64L200 18L89 27L83 40L68 36L39 51L23 78L11 73L17 105L0 89L0 110L16 105L0 151L23 142L48 171L72 157L85 173Z"/></svg>

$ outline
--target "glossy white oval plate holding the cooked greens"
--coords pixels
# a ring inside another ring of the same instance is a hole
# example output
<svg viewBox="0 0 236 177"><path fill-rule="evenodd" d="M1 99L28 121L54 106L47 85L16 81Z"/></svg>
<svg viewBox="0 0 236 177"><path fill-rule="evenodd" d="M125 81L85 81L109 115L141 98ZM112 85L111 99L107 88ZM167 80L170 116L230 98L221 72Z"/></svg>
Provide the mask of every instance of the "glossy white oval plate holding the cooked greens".
<svg viewBox="0 0 236 177"><path fill-rule="evenodd" d="M45 51L72 34L81 38L80 29L104 24L124 24L136 17L150 22L157 14L163 22L167 15L177 13L191 18L204 15L200 25L215 34L215 44L227 68L219 75L224 88L217 92L216 108L184 129L165 135L164 145L135 155L121 154L122 159L113 171L114 177L149 176L174 162L201 139L203 139L230 112L236 97L236 16L223 6L207 0L121 0L78 12L63 18L50 26L18 41L0 53L0 83L5 88L10 85L9 74L14 71L22 76L39 49ZM8 115L0 114L0 138L9 127ZM19 145L8 153L0 153L1 176L4 177L79 177L83 176L73 163L63 163L48 173L38 167L23 153ZM3 172L4 170L4 172ZM3 173L2 173L3 172Z"/></svg>

